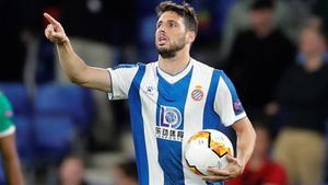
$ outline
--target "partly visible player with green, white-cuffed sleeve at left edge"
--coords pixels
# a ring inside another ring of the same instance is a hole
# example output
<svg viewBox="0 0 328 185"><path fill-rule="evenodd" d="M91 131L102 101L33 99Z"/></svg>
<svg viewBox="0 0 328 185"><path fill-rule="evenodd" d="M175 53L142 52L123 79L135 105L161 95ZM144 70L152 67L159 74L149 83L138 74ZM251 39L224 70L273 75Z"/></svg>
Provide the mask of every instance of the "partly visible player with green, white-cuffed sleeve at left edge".
<svg viewBox="0 0 328 185"><path fill-rule="evenodd" d="M15 147L15 126L12 123L12 107L7 96L0 92L0 150L7 183L9 185L23 185L21 164Z"/></svg>

